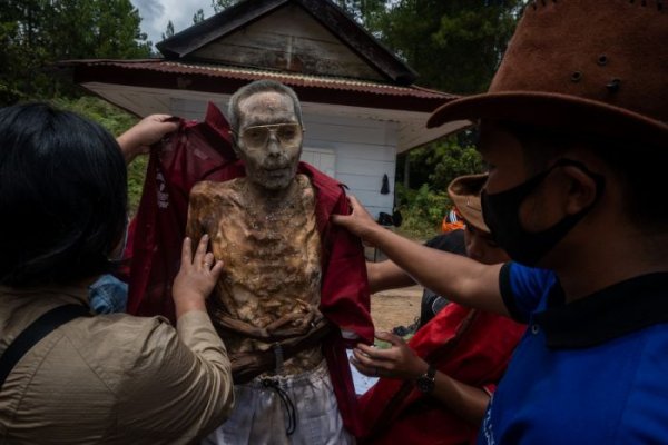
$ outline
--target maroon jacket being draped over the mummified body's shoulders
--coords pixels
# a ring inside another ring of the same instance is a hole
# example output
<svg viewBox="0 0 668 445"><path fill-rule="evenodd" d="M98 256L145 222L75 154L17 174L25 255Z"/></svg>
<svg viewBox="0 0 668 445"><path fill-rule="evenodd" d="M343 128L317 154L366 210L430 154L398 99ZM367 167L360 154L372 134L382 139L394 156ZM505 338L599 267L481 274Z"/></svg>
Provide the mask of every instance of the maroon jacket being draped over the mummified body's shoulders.
<svg viewBox="0 0 668 445"><path fill-rule="evenodd" d="M179 267L190 189L200 180L245 176L243 164L232 150L228 123L213 103L204 122L181 123L178 131L151 149L128 246L128 312L163 315L173 322L171 283ZM311 178L316 191L315 216L323 246L320 309L336 326L360 337L345 340L334 332L323 342L344 424L358 435L360 416L345 346L373 340L364 249L357 237L330 221L331 215L351 211L343 185L304 162L299 162L298 172Z"/></svg>

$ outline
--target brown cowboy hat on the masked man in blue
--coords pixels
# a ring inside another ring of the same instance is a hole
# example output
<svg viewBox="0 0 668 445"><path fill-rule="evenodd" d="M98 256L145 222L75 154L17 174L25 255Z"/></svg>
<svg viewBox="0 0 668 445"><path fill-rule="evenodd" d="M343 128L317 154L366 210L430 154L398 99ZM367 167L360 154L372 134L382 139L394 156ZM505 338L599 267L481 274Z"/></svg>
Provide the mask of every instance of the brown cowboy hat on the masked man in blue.
<svg viewBox="0 0 668 445"><path fill-rule="evenodd" d="M494 119L668 144L668 3L540 0L525 7L487 93L426 126Z"/></svg>

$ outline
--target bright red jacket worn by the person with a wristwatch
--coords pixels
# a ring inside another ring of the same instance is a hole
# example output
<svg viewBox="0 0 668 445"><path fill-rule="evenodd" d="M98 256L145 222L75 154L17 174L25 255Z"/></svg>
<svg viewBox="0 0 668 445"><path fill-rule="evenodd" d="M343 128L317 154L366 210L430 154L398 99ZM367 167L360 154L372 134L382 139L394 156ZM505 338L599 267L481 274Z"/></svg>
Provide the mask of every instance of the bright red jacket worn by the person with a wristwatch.
<svg viewBox="0 0 668 445"><path fill-rule="evenodd" d="M525 326L451 303L409 345L436 369L493 392ZM360 399L363 444L468 444L478 428L450 413L413 382L381 378Z"/></svg>

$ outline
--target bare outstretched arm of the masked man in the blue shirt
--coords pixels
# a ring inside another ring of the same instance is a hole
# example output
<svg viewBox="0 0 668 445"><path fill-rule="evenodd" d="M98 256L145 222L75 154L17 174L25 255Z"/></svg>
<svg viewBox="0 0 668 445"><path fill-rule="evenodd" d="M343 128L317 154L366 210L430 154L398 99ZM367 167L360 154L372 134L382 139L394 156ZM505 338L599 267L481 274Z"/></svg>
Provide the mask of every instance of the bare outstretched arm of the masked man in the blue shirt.
<svg viewBox="0 0 668 445"><path fill-rule="evenodd" d="M508 316L501 299L502 265L488 266L461 255L422 246L377 225L353 196L353 212L332 220L375 246L420 285L464 306Z"/></svg>

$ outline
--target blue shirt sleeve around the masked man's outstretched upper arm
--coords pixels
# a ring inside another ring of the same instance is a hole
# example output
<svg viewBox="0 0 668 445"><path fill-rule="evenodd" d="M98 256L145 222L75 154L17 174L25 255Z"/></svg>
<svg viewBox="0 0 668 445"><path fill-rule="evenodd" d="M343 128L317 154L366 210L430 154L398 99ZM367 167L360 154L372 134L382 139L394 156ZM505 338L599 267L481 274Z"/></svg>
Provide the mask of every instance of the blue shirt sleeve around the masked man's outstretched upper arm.
<svg viewBox="0 0 668 445"><path fill-rule="evenodd" d="M554 273L507 263L499 275L501 297L510 316L520 323L529 323L544 295L556 284Z"/></svg>

